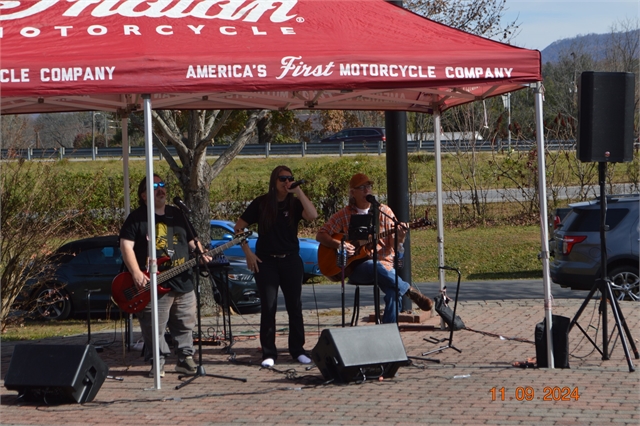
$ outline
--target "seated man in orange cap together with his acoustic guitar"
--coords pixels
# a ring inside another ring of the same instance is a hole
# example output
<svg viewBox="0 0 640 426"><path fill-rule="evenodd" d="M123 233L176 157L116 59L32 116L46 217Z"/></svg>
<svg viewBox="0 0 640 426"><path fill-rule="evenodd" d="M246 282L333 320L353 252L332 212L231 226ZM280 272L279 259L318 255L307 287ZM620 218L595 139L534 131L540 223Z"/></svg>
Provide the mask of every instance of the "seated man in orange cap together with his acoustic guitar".
<svg viewBox="0 0 640 426"><path fill-rule="evenodd" d="M336 253L340 249L344 236L348 237L349 223L352 215L368 215L371 203L367 201L367 196L372 194L373 181L363 173L353 175L349 181L349 205L337 211L320 228L316 235L316 240L321 244L318 250L318 262L320 270L330 279L336 278L335 270L324 267L323 263L336 265ZM389 206L380 204L378 207L380 215L380 229L378 240L378 262L377 270L374 271L373 260L371 259L373 247L369 247L367 241L345 241L344 247L347 252L347 266L345 276L351 277L356 282L374 281L374 273L378 274L378 286L384 293L384 315L383 323L395 323L397 318L396 303L399 302L402 310L402 296L407 295L418 307L424 311L430 311L433 302L424 296L419 290L398 276L399 301L396 301L396 271L393 266L394 252L394 232L393 220L395 215ZM402 224L398 232L398 247L404 243L406 232L409 229L407 224ZM328 262L323 262L323 257L328 256ZM329 270L330 272L327 272ZM338 268L341 272L341 269Z"/></svg>

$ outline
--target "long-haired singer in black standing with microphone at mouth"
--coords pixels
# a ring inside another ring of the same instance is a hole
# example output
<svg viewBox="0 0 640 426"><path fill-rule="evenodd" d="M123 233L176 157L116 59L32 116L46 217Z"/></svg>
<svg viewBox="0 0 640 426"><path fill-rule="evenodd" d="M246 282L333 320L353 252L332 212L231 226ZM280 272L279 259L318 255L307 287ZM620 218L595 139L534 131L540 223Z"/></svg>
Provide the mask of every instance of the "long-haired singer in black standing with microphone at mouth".
<svg viewBox="0 0 640 426"><path fill-rule="evenodd" d="M253 271L261 301L260 344L262 366L273 367L276 348L276 312L278 288L282 290L289 316L289 354L302 364L311 359L304 349L302 318L302 278L304 265L300 258L298 224L318 216L316 208L295 182L291 169L278 166L271 172L269 191L254 199L235 224L236 233L258 224L258 241L253 253L242 245L247 267Z"/></svg>

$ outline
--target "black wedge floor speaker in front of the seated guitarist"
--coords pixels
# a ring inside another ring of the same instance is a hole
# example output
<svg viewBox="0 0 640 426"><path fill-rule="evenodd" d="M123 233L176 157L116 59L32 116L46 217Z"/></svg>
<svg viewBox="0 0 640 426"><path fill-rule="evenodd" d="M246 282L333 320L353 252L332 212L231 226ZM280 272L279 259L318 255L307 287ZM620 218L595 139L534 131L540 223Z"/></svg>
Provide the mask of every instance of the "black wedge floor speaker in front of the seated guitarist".
<svg viewBox="0 0 640 426"><path fill-rule="evenodd" d="M322 330L311 358L337 383L390 378L408 362L396 324Z"/></svg>

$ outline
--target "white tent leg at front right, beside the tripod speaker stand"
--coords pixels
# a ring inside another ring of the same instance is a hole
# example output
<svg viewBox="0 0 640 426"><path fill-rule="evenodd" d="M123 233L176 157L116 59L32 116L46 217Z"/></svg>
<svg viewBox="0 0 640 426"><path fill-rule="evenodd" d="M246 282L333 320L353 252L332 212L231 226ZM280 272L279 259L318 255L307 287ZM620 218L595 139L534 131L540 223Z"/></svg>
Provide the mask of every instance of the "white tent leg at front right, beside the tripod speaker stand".
<svg viewBox="0 0 640 426"><path fill-rule="evenodd" d="M554 368L553 359L553 296L551 295L551 275L549 274L549 225L547 220L547 181L544 161L544 128L542 126L542 83L535 83L536 140L538 143L538 192L540 194L540 243L542 246L542 282L544 284L544 318L547 323L547 360L549 368Z"/></svg>

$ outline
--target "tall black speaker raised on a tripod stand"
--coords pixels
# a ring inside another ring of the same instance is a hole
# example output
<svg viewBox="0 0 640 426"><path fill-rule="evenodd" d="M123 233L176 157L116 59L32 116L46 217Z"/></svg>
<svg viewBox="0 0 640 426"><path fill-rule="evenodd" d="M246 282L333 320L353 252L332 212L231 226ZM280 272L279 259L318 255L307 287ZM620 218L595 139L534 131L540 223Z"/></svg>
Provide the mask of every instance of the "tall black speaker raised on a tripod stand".
<svg viewBox="0 0 640 426"><path fill-rule="evenodd" d="M633 73L585 71L580 75L578 95L578 159L632 161Z"/></svg>

